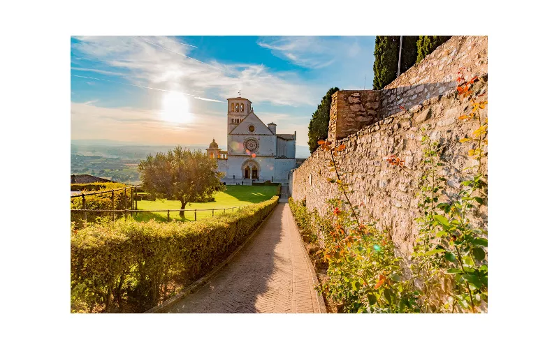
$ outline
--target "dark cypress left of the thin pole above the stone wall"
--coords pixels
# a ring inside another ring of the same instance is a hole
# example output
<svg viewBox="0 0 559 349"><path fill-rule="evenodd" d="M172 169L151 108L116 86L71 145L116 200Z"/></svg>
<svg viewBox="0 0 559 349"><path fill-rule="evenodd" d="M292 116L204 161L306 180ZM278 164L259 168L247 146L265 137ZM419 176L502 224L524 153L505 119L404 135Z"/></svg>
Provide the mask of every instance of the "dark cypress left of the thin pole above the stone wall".
<svg viewBox="0 0 559 349"><path fill-rule="evenodd" d="M375 78L373 89L382 89L390 84L398 73L398 46L400 36L377 36L375 38L375 63L372 69Z"/></svg>

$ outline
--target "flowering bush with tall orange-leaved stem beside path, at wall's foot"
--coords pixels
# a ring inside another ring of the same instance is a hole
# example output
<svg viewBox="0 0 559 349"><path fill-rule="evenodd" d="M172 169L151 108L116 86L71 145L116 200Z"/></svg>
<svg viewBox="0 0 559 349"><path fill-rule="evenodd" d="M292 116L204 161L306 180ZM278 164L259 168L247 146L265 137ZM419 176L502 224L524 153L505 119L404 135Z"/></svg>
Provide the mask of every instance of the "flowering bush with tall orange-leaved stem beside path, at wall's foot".
<svg viewBox="0 0 559 349"><path fill-rule="evenodd" d="M417 292L412 281L403 278L389 232L377 230L374 222L361 223L364 204L349 201L351 188L342 178L348 172L342 171L335 159L345 145L336 147L324 140L319 145L330 153L330 168L335 174L327 180L340 191L340 198L328 200L331 229L324 235L328 280L321 291L347 313L415 312Z"/></svg>

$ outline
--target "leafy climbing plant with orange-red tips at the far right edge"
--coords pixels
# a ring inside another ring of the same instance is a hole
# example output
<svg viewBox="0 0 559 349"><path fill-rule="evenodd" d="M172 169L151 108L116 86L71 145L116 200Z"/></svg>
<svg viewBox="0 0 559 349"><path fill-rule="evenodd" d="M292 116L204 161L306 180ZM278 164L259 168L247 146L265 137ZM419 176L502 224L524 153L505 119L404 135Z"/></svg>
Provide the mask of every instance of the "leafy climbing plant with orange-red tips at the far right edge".
<svg viewBox="0 0 559 349"><path fill-rule="evenodd" d="M439 202L447 181L437 175L442 165L442 151L421 129L426 166L419 181L418 207L423 215L416 219L419 238L414 248L412 270L422 283L424 312L476 312L477 307L484 307L488 300L487 231L475 226L469 218L472 211L479 210L487 202L487 178L481 171L481 163L487 156L484 150L487 119L480 113L487 101L481 101L485 93L472 88L477 80L473 77L466 81L460 69L458 97L469 101L470 107L458 119L477 120L479 128L472 132L472 137L460 140L472 142L467 156L474 158L476 165L463 170L464 177L470 179L462 181L458 196L453 200ZM405 109L402 107L402 110ZM413 120L411 115L410 119Z"/></svg>

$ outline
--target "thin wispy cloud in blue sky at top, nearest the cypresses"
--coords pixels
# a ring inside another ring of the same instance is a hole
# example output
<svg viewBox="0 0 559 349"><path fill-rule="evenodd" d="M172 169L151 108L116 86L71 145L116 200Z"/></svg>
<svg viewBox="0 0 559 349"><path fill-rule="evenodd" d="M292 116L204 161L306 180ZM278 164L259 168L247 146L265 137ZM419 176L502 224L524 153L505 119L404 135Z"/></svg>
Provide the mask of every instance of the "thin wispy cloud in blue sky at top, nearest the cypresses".
<svg viewBox="0 0 559 349"><path fill-rule="evenodd" d="M304 68L320 69L335 61L355 57L361 50L358 43L331 36L283 36L261 38L258 42L282 59Z"/></svg>

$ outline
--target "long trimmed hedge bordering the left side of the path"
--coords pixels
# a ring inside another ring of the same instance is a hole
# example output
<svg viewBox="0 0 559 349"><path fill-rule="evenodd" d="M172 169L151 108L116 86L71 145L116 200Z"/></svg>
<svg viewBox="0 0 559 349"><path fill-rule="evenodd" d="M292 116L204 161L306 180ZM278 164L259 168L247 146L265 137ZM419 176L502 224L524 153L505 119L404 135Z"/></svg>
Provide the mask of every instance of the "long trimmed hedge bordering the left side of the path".
<svg viewBox="0 0 559 349"><path fill-rule="evenodd" d="M241 244L278 197L196 222L117 221L72 232L71 311L145 311ZM124 310L123 310L124 309Z"/></svg>

